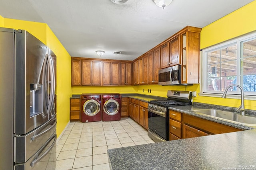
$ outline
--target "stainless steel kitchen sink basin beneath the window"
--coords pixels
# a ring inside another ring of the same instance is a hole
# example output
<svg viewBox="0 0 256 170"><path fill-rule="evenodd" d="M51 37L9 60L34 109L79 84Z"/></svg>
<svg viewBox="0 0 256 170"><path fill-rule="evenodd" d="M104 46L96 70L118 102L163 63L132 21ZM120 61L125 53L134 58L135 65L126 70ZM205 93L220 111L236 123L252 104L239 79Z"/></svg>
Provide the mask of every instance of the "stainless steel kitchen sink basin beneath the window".
<svg viewBox="0 0 256 170"><path fill-rule="evenodd" d="M256 117L249 115L240 115L239 113L234 113L230 111L222 111L217 109L198 109L194 110L196 113L201 113L204 115L209 115L212 117L218 117L220 119L226 119L230 121L235 121L248 126L256 126Z"/></svg>

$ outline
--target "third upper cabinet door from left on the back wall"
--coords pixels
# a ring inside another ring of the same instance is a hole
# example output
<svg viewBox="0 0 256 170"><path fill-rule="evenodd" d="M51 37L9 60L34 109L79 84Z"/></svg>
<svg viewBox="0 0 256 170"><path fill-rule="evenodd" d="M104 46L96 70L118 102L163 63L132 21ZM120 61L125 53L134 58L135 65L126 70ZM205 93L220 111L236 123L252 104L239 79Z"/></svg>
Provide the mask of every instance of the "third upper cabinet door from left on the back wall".
<svg viewBox="0 0 256 170"><path fill-rule="evenodd" d="M101 85L101 61L92 61L92 85Z"/></svg>

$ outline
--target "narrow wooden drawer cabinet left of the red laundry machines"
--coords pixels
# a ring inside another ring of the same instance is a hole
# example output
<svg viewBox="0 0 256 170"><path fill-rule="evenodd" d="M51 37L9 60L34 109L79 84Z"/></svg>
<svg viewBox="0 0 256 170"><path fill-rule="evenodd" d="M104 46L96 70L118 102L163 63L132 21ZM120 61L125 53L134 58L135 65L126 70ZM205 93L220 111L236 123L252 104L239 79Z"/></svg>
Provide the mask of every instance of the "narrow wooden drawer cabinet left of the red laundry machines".
<svg viewBox="0 0 256 170"><path fill-rule="evenodd" d="M80 120L80 99L70 98L70 121Z"/></svg>

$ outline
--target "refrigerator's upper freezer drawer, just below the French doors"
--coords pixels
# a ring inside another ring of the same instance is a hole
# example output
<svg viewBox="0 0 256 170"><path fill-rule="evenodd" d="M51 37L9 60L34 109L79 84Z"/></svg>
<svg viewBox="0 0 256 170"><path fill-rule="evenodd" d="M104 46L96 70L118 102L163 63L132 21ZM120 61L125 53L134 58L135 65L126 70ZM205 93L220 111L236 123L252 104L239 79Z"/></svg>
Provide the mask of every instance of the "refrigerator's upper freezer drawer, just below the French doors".
<svg viewBox="0 0 256 170"><path fill-rule="evenodd" d="M14 137L14 162L16 164L27 162L48 139L56 134L56 117L30 133Z"/></svg>

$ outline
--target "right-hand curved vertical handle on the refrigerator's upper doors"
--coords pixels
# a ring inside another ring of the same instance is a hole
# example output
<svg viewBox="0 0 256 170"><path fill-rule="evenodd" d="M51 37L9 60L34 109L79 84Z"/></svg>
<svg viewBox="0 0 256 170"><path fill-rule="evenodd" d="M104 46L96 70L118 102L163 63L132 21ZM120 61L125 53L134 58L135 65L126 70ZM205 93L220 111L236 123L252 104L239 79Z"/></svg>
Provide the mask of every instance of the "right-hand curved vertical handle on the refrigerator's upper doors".
<svg viewBox="0 0 256 170"><path fill-rule="evenodd" d="M54 73L54 66L52 57L50 54L47 54L47 59L49 62L49 69L50 69L50 77L51 77L51 89L50 89L50 100L49 105L47 108L47 113L50 114L50 111L52 110L52 105L54 103L54 94L55 94L55 73Z"/></svg>

